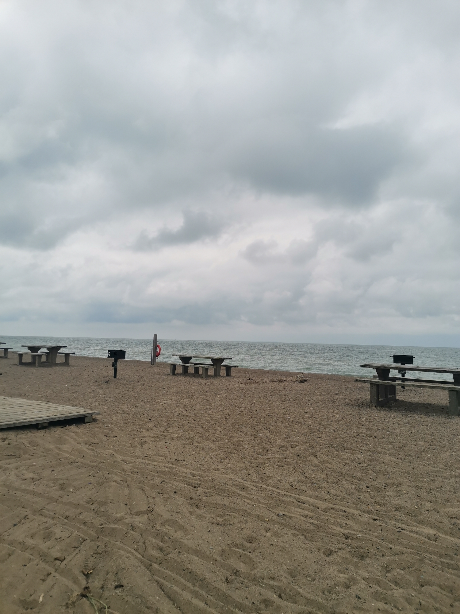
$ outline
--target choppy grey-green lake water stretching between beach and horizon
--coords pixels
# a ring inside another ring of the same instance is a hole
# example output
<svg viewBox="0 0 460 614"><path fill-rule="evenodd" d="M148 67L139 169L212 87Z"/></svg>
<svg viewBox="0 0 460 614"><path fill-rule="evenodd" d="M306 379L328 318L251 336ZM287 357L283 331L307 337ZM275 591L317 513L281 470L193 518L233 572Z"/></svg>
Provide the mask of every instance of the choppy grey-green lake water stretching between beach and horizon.
<svg viewBox="0 0 460 614"><path fill-rule="evenodd" d="M150 362L151 339L110 339L84 337L2 336L7 346L21 351L25 344L65 345L77 356L107 357L107 349L125 349L127 359ZM323 343L271 343L251 341L184 341L159 339L161 357L168 362L178 360L172 354L184 352L195 356L231 356L240 367L275 369L298 373L335 373L337 375L374 375L361 369L366 362L393 362L391 354L413 354L415 365L460 367L460 348L410 348L407 346L335 345ZM423 378L446 379L451 375Z"/></svg>

